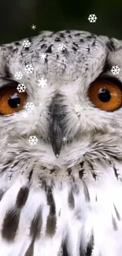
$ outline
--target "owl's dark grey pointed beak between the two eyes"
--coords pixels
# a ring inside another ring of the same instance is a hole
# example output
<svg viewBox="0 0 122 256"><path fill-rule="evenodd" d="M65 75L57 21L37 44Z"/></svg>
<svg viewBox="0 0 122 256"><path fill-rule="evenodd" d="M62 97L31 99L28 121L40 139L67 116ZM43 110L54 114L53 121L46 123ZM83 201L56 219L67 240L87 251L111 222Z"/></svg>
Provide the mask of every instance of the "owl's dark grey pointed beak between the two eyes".
<svg viewBox="0 0 122 256"><path fill-rule="evenodd" d="M52 145L54 155L58 158L61 152L62 132L57 115L54 115L52 118L52 124L50 125L50 143Z"/></svg>

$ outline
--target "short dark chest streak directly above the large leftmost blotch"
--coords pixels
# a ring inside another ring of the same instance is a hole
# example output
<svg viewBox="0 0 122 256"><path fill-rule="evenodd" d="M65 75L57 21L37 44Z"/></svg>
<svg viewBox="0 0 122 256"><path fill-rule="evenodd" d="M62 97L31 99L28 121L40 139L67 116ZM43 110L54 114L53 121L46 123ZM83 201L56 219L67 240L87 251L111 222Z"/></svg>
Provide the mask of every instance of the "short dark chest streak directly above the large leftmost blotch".
<svg viewBox="0 0 122 256"><path fill-rule="evenodd" d="M16 200L16 205L18 208L22 208L24 206L25 202L28 199L28 193L29 193L28 187L20 187L20 191L18 192L17 200Z"/></svg>

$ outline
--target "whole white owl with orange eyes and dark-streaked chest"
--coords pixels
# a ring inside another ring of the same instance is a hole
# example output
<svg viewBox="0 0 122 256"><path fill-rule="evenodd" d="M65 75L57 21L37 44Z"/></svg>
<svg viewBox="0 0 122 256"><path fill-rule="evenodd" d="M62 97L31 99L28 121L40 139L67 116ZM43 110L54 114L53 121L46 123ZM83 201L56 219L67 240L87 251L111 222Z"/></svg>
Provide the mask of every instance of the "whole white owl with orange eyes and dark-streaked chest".
<svg viewBox="0 0 122 256"><path fill-rule="evenodd" d="M0 255L122 255L122 41L0 46Z"/></svg>

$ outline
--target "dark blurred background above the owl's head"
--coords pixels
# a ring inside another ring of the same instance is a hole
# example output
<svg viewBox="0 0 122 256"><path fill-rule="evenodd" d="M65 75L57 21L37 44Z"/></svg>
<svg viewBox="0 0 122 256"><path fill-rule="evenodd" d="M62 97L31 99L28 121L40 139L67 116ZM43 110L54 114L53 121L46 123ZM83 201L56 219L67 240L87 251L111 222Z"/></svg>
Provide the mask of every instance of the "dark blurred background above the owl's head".
<svg viewBox="0 0 122 256"><path fill-rule="evenodd" d="M87 20L92 13L98 17L96 23ZM41 30L65 29L122 39L122 1L0 0L0 43L28 38Z"/></svg>

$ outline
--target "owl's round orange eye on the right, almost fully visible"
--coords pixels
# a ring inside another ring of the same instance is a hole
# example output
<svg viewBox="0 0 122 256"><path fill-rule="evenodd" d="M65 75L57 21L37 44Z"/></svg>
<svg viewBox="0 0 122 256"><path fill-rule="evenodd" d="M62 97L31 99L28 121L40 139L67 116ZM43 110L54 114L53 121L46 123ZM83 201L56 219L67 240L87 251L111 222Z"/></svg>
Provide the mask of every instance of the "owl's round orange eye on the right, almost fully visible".
<svg viewBox="0 0 122 256"><path fill-rule="evenodd" d="M91 83L88 96L98 109L113 111L122 106L120 86L109 80L96 80L94 83Z"/></svg>

